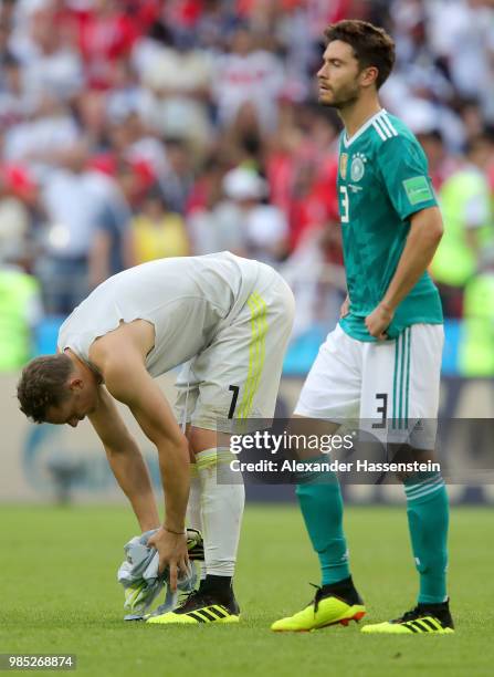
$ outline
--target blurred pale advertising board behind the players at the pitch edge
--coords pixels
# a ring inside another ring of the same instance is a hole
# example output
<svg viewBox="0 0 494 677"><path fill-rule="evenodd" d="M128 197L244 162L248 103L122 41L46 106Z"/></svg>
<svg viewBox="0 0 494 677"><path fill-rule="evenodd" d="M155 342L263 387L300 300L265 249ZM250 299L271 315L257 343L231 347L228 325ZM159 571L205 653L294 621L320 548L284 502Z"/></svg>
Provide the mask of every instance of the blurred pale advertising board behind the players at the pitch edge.
<svg viewBox="0 0 494 677"><path fill-rule="evenodd" d="M174 375L159 379L167 397L174 399ZM2 435L0 501L50 502L69 497L77 502L125 501L109 470L102 445L88 421L77 430L69 426L36 426L18 409L14 396L17 375L0 376L0 426ZM283 378L276 415L288 417L293 412L303 379ZM149 465L153 481L160 486L156 451L143 436L126 407L122 414L138 438ZM441 389L441 417L465 419L494 418L494 381L463 379L445 376ZM452 440L452 454L459 452L461 440ZM492 439L488 442L492 445ZM291 486L250 486L251 500L293 500ZM347 486L347 499L355 502L401 502L400 486ZM453 502L494 503L494 486L454 485Z"/></svg>

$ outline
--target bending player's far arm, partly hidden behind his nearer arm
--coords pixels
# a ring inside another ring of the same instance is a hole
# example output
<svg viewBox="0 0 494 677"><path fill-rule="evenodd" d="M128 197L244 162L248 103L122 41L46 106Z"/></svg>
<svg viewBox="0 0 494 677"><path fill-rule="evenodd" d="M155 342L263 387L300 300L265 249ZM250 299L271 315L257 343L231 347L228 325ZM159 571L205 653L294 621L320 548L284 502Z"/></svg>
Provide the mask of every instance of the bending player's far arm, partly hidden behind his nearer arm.
<svg viewBox="0 0 494 677"><path fill-rule="evenodd" d="M147 466L113 397L104 386L99 390L98 407L88 418L103 442L118 485L130 501L140 529L156 529L159 527L159 514Z"/></svg>

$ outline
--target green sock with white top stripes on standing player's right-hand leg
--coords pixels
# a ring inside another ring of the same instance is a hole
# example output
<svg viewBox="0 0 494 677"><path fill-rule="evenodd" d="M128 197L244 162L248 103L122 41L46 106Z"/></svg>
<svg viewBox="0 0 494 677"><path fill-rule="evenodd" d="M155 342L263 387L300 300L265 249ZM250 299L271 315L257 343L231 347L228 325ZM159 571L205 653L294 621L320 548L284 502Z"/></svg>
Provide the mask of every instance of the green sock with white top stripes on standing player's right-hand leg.
<svg viewBox="0 0 494 677"><path fill-rule="evenodd" d="M448 598L449 506L444 480L439 473L422 481L404 482L407 515L413 556L420 574L419 604L439 604Z"/></svg>

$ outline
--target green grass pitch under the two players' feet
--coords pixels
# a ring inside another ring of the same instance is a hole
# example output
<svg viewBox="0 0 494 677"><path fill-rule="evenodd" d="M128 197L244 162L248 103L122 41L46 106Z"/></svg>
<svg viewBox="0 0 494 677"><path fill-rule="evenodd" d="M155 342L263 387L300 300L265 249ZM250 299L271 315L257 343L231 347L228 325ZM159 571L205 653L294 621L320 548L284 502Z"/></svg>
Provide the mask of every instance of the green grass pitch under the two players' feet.
<svg viewBox="0 0 494 677"><path fill-rule="evenodd" d="M353 623L274 634L270 623L302 607L316 560L295 506L249 506L240 549L235 626L124 624L115 581L129 510L1 507L0 653L73 653L76 675L449 675L494 674L493 513L451 514L452 636L365 636ZM348 508L353 573L365 621L413 605L417 577L404 509ZM44 670L43 670L44 673Z"/></svg>

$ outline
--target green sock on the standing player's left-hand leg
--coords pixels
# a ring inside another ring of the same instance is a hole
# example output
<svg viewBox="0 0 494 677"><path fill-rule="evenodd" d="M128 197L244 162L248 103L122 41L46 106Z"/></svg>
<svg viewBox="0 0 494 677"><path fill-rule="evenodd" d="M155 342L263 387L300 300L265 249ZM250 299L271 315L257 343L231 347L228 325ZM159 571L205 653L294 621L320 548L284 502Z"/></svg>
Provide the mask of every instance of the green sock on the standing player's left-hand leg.
<svg viewBox="0 0 494 677"><path fill-rule="evenodd" d="M334 472L315 476L297 485L296 494L311 542L319 558L322 585L347 579L350 571L338 478Z"/></svg>

